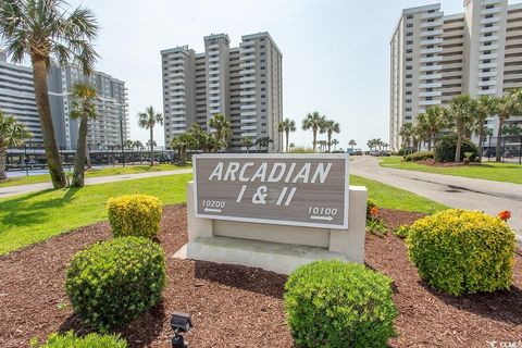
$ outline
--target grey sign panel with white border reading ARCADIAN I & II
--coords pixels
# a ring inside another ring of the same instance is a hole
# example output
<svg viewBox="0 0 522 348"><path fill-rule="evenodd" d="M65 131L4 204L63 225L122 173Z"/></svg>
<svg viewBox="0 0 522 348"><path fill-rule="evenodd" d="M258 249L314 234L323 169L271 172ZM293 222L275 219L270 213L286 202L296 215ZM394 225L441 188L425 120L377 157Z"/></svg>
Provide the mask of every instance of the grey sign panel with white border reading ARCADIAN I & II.
<svg viewBox="0 0 522 348"><path fill-rule="evenodd" d="M198 154L197 217L348 228L348 154Z"/></svg>

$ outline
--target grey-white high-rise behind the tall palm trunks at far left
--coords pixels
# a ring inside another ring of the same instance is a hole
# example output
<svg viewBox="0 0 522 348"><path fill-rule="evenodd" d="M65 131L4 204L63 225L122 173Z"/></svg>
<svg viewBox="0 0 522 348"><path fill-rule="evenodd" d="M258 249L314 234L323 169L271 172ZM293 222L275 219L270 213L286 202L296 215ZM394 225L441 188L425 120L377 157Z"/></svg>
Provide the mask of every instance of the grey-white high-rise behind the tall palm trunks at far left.
<svg viewBox="0 0 522 348"><path fill-rule="evenodd" d="M95 72L88 80L98 89L97 111L100 115L89 120L87 142L92 149L110 149L128 138L128 104L125 83L101 72ZM76 149L78 125L71 119L71 90L76 82L86 82L82 71L75 67L51 65L47 76L54 135L60 149ZM0 52L0 110L14 115L33 133L30 144L41 146L40 121L35 101L33 70L7 62Z"/></svg>

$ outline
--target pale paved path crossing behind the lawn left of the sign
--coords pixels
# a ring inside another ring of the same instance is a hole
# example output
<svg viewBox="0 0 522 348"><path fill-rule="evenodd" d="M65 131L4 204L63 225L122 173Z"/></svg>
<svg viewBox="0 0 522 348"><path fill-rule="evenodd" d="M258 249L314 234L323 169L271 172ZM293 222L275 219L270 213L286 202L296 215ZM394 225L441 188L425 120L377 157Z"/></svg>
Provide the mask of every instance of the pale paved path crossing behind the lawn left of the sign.
<svg viewBox="0 0 522 348"><path fill-rule="evenodd" d="M165 176L165 175L174 175L174 174L189 174L189 173L192 173L191 169L165 171L165 172L151 172L151 173L139 173L139 174L122 174L122 175L111 175L111 176L87 177L85 179L85 184L86 185L96 185L96 184L114 183L114 182L121 182L121 181L130 181L130 179L135 179L135 178L156 177L156 176ZM48 188L52 188L51 183L40 183L40 184L0 187L0 198L14 196L14 195L28 194L28 192L33 192L33 191L39 191L39 190L48 189Z"/></svg>

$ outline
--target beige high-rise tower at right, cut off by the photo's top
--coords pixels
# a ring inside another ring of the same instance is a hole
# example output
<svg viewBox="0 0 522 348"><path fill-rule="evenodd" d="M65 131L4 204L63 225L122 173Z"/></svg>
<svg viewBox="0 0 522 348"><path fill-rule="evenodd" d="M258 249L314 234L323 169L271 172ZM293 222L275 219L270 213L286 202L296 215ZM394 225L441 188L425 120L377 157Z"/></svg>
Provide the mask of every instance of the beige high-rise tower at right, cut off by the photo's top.
<svg viewBox="0 0 522 348"><path fill-rule="evenodd" d="M389 141L430 105L458 95L502 96L522 87L522 4L464 0L464 12L444 15L439 4L402 11L390 41ZM522 117L509 122L520 123ZM497 132L496 117L487 126Z"/></svg>

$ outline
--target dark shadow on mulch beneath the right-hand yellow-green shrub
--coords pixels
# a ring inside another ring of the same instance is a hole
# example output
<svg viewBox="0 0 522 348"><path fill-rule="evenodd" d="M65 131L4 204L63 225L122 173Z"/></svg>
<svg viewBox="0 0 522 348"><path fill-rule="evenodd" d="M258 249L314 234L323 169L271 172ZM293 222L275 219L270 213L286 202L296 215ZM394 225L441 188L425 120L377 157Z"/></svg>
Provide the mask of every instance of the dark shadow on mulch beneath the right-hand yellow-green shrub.
<svg viewBox="0 0 522 348"><path fill-rule="evenodd" d="M419 283L433 296L456 309L498 322L522 325L522 290L517 286L509 290L455 297L440 293L422 281Z"/></svg>

